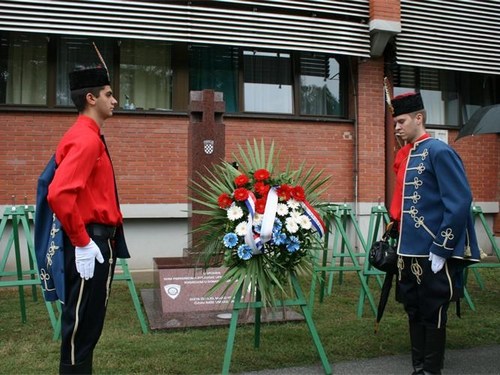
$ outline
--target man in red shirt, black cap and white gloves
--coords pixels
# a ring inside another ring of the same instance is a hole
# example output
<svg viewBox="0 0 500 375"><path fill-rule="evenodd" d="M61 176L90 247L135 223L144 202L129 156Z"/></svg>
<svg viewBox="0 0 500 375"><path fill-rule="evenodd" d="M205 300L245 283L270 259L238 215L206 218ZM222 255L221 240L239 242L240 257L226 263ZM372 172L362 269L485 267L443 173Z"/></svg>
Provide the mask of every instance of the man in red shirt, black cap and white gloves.
<svg viewBox="0 0 500 375"><path fill-rule="evenodd" d="M116 258L128 258L113 166L101 128L117 105L105 68L69 75L79 116L56 150L47 200L64 231L61 374L92 373Z"/></svg>

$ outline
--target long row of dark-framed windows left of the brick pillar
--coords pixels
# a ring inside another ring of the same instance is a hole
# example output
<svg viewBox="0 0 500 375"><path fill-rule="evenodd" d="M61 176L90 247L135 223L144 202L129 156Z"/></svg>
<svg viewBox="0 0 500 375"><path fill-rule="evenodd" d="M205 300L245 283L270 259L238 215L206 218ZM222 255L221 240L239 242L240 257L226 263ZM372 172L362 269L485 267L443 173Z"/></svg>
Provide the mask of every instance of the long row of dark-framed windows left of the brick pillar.
<svg viewBox="0 0 500 375"><path fill-rule="evenodd" d="M342 56L16 32L0 33L0 105L72 108L68 74L103 64L93 43L123 110L186 111L189 91L212 89L222 92L226 113L346 113Z"/></svg>

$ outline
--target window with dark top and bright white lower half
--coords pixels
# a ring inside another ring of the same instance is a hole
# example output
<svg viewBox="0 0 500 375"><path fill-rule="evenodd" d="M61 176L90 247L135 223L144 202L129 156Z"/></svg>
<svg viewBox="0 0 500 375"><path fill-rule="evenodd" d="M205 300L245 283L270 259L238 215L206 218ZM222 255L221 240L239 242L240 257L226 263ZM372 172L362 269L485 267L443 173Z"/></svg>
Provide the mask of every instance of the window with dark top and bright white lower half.
<svg viewBox="0 0 500 375"><path fill-rule="evenodd" d="M243 51L245 112L293 113L290 54Z"/></svg>

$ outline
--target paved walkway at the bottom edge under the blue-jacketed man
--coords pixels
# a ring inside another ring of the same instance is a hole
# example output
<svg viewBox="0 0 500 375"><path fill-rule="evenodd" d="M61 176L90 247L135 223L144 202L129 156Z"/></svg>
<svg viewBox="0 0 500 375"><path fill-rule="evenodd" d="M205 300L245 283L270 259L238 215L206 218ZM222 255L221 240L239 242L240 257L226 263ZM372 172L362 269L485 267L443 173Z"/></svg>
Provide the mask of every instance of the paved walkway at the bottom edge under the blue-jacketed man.
<svg viewBox="0 0 500 375"><path fill-rule="evenodd" d="M472 349L447 350L443 375L500 374L500 345ZM363 359L332 364L333 374L338 375L409 375L410 354ZM292 367L277 370L245 372L241 375L314 375L324 374L321 364L308 367Z"/></svg>

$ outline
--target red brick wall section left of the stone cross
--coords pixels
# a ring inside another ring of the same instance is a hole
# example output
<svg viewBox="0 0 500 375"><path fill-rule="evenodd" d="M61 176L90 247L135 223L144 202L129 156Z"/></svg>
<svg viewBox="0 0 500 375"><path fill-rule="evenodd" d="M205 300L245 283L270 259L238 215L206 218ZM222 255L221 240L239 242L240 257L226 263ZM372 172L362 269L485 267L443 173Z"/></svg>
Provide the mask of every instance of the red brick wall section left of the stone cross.
<svg viewBox="0 0 500 375"><path fill-rule="evenodd" d="M1 113L0 204L35 202L37 178L75 114ZM187 116L116 114L103 129L122 203L179 203L187 196Z"/></svg>

